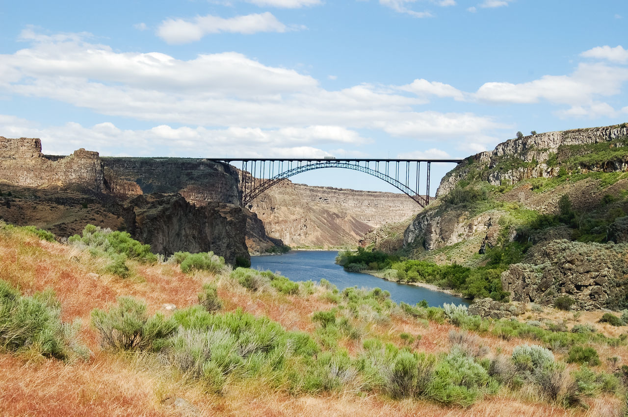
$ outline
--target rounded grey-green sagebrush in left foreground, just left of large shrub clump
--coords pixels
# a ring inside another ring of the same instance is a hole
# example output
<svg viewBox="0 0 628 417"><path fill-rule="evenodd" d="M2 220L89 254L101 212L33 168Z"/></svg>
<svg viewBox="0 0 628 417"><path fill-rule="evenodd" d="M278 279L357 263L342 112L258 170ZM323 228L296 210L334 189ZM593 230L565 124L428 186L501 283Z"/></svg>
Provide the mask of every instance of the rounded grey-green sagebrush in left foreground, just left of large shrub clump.
<svg viewBox="0 0 628 417"><path fill-rule="evenodd" d="M109 311L92 310L92 325L100 333L100 345L114 351L158 350L176 328L163 314L146 315L146 304L133 297L118 297Z"/></svg>

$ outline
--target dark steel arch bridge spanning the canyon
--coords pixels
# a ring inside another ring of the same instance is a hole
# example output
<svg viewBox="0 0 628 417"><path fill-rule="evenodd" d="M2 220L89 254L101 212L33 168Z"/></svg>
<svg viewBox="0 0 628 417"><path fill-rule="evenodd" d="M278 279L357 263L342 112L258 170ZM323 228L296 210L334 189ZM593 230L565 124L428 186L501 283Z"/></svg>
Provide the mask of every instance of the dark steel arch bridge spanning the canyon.
<svg viewBox="0 0 628 417"><path fill-rule="evenodd" d="M432 162L460 164L462 159L346 159L323 157L314 159L273 158L208 158L207 161L241 162L240 187L242 206L252 201L267 189L301 172L323 168L344 168L365 172L396 187L421 207L430 204L430 170ZM421 195L421 164L425 168L425 194Z"/></svg>

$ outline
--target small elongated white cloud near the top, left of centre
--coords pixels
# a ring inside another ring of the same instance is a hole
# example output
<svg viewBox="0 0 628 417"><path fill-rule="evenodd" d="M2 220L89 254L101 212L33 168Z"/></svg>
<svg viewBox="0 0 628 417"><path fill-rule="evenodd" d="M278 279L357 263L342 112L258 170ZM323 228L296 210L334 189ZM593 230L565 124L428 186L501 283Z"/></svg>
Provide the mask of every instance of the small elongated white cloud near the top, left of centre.
<svg viewBox="0 0 628 417"><path fill-rule="evenodd" d="M234 18L220 18L208 14L191 20L166 19L157 29L157 36L170 44L198 41L211 33L285 32L288 28L270 12L247 14Z"/></svg>

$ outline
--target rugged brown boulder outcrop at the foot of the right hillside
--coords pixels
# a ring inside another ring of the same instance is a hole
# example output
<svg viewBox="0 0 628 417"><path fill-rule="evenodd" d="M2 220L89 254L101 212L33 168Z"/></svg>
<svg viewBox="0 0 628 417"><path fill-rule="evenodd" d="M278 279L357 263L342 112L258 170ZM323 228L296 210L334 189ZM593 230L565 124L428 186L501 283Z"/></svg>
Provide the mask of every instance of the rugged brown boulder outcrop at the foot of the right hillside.
<svg viewBox="0 0 628 417"><path fill-rule="evenodd" d="M511 300L552 304L568 295L575 309L617 308L625 303L628 288L628 245L551 241L533 257L502 273L504 291Z"/></svg>

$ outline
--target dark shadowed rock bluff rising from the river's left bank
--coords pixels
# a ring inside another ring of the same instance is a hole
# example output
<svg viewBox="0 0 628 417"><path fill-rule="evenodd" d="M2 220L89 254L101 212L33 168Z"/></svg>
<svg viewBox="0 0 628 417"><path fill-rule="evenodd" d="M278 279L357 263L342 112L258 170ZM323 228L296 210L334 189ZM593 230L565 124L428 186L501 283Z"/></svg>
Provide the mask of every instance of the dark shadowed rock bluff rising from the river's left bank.
<svg viewBox="0 0 628 417"><path fill-rule="evenodd" d="M244 240L247 216L241 208L208 203L195 207L178 195L149 194L131 199L134 219L127 231L149 243L154 253L214 251L230 264L237 257L249 259Z"/></svg>

